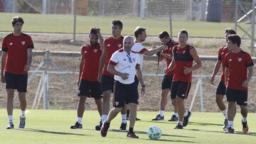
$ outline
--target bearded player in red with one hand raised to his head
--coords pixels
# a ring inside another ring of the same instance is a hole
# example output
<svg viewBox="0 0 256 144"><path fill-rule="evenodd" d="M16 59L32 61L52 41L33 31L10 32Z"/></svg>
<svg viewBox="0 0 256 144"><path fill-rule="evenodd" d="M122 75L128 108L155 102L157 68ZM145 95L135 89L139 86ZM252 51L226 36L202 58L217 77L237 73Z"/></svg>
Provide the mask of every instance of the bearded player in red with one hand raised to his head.
<svg viewBox="0 0 256 144"><path fill-rule="evenodd" d="M100 82L97 81L97 73L100 67L100 56L102 50L100 49L103 43L102 35L99 28L90 29L90 43L83 45L81 48L80 70L78 78L79 87L79 102L78 102L78 118L72 129L82 128L82 115L85 111L86 98L94 98L97 104L97 111L100 116L102 113L102 92ZM100 38L100 43L98 39Z"/></svg>

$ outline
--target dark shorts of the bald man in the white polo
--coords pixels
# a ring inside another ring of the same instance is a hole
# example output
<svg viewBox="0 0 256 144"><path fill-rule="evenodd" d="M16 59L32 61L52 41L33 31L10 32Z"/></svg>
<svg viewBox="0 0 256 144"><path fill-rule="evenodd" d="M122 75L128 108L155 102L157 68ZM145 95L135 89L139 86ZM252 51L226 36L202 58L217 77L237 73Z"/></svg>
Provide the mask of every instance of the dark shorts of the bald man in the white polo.
<svg viewBox="0 0 256 144"><path fill-rule="evenodd" d="M115 82L114 84L114 100L113 106L116 108L124 107L124 104L139 104L139 94L135 82L132 84L122 84Z"/></svg>

